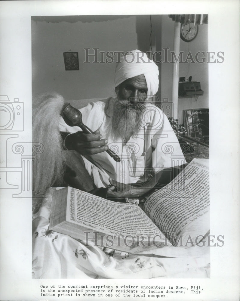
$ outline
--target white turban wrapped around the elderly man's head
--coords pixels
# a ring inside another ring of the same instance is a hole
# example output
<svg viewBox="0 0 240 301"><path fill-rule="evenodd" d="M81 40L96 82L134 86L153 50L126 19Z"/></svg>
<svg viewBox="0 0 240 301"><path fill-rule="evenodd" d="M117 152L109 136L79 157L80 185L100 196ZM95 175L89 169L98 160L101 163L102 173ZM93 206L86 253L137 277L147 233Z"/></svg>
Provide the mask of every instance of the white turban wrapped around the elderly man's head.
<svg viewBox="0 0 240 301"><path fill-rule="evenodd" d="M115 87L126 79L144 74L147 84L148 98L158 91L158 66L140 50L128 51L120 57L115 69Z"/></svg>

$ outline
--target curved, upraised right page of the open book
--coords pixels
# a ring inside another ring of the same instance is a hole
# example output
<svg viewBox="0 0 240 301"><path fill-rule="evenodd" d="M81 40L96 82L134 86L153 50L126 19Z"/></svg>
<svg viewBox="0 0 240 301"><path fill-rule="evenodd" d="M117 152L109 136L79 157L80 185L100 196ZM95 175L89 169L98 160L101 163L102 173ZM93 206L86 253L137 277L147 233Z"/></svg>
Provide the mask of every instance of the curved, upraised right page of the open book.
<svg viewBox="0 0 240 301"><path fill-rule="evenodd" d="M187 225L209 212L208 159L193 159L171 183L148 198L144 211L174 243ZM203 225L205 233L199 230L199 234L206 234L208 223Z"/></svg>

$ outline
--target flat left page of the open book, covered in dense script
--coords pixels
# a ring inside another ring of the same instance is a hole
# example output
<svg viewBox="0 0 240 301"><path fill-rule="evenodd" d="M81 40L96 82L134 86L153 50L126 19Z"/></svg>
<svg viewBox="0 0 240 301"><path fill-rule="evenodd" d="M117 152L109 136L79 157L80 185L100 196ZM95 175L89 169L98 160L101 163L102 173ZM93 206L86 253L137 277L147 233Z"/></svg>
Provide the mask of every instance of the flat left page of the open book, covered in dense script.
<svg viewBox="0 0 240 301"><path fill-rule="evenodd" d="M134 204L112 202L75 188L69 188L68 201L71 222L106 234L144 237L159 235L164 239L161 231Z"/></svg>

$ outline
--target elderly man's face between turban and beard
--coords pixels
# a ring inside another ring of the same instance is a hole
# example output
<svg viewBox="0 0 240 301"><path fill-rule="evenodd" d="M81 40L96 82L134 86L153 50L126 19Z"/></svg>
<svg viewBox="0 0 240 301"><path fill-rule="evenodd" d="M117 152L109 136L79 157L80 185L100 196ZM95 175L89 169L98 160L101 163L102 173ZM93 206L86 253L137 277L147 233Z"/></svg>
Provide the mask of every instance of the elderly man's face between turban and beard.
<svg viewBox="0 0 240 301"><path fill-rule="evenodd" d="M143 102L147 98L147 84L143 74L126 79L118 86L118 97L132 103Z"/></svg>

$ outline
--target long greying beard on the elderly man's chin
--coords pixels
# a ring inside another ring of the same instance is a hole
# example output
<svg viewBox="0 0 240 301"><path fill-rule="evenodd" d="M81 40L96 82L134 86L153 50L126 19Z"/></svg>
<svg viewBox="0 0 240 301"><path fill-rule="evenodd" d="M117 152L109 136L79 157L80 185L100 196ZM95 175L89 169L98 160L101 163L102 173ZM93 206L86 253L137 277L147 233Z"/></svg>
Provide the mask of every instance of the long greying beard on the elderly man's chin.
<svg viewBox="0 0 240 301"><path fill-rule="evenodd" d="M127 142L140 129L140 118L144 104L130 104L128 100L118 98L114 103L112 135Z"/></svg>

